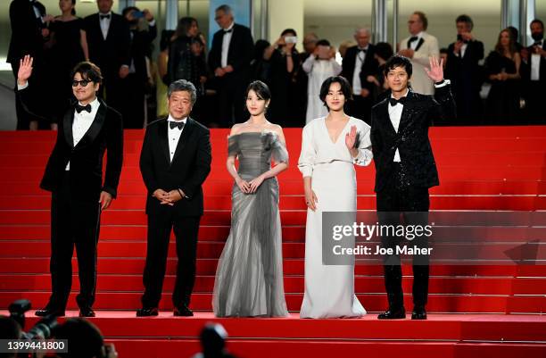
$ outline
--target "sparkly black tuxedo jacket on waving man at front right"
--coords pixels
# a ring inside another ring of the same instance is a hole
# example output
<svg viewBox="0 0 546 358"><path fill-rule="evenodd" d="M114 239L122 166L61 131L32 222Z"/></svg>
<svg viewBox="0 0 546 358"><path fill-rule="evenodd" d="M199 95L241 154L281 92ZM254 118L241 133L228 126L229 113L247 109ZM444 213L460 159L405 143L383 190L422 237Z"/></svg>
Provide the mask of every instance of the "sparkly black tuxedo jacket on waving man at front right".
<svg viewBox="0 0 546 358"><path fill-rule="evenodd" d="M388 98L372 107L370 138L376 164L376 192L380 192L391 177L396 148L408 186L439 185L428 128L433 121L451 118L454 113L455 102L449 85L436 88L434 97L409 90L398 132L389 117Z"/></svg>

